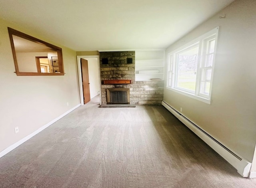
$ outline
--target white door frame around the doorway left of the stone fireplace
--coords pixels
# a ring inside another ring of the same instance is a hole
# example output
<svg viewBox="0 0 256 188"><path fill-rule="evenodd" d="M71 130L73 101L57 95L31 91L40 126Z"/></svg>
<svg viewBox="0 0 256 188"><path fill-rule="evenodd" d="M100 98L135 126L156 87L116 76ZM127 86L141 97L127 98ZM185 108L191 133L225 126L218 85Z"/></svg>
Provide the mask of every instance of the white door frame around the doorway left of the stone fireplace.
<svg viewBox="0 0 256 188"><path fill-rule="evenodd" d="M76 55L77 59L77 71L78 71L78 84L79 84L79 93L80 93L80 103L81 106L84 105L84 92L83 92L83 85L82 85L82 71L81 71L81 59L87 58L97 58L98 62L98 73L100 75L100 55ZM101 85L100 85L100 78L99 78L99 88L100 88L100 105L102 105L101 100Z"/></svg>

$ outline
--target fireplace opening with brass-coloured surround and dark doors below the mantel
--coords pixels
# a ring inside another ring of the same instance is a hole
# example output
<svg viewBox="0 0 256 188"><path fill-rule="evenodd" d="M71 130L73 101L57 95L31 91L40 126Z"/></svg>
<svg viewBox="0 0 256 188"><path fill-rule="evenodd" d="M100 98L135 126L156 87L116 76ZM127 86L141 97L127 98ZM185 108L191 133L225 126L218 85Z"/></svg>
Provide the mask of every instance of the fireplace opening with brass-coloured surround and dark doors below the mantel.
<svg viewBox="0 0 256 188"><path fill-rule="evenodd" d="M107 89L107 104L130 104L129 88Z"/></svg>

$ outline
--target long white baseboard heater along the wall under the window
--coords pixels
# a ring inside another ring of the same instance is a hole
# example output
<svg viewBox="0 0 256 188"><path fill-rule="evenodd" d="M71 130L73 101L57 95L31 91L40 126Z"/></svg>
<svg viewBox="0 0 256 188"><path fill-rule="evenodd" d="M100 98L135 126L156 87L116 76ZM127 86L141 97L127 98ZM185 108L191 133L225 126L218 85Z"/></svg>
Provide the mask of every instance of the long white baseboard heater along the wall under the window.
<svg viewBox="0 0 256 188"><path fill-rule="evenodd" d="M234 168L236 168L237 172L241 176L249 177L252 163L248 162L247 160L227 148L224 144L216 140L204 129L202 129L200 126L196 125L196 123L192 122L190 119L182 115L165 101L162 101L162 105L175 117L177 117L184 125L186 125L191 131L193 131L198 137L200 137L200 139L202 139L204 142L206 142L206 144L208 144L218 154L220 154L220 156L222 156L232 166L234 166Z"/></svg>

